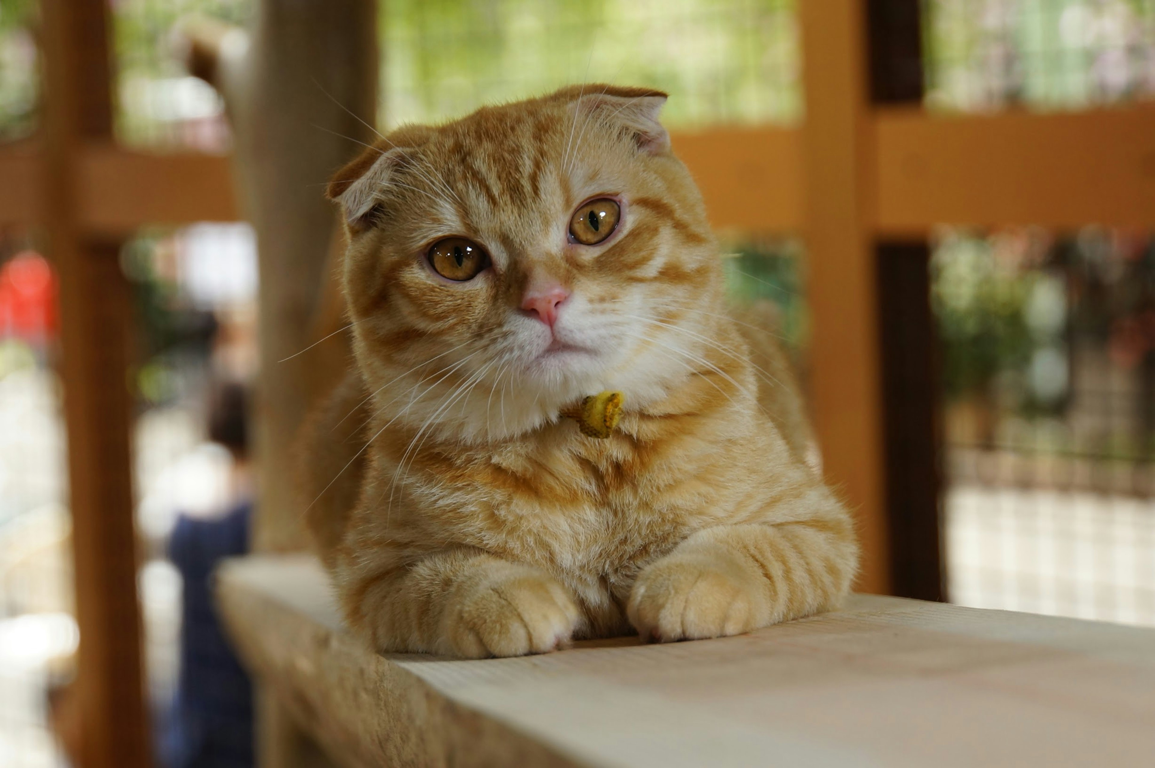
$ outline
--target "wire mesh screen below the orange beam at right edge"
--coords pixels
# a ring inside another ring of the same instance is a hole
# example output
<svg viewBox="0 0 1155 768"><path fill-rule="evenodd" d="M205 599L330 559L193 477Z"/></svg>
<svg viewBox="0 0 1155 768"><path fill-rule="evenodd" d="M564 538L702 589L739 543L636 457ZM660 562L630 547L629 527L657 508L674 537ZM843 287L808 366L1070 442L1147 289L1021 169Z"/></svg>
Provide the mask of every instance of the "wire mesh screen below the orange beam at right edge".
<svg viewBox="0 0 1155 768"><path fill-rule="evenodd" d="M952 598L1155 624L1155 245L945 236Z"/></svg>

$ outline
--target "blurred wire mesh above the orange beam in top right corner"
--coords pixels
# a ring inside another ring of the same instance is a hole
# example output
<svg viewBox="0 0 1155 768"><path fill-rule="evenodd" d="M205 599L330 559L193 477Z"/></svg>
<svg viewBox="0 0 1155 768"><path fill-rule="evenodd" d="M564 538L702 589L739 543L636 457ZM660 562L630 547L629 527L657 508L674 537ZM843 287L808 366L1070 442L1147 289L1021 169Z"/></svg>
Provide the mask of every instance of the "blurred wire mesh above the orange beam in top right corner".
<svg viewBox="0 0 1155 768"><path fill-rule="evenodd" d="M923 0L927 105L1076 109L1155 95L1155 0Z"/></svg>

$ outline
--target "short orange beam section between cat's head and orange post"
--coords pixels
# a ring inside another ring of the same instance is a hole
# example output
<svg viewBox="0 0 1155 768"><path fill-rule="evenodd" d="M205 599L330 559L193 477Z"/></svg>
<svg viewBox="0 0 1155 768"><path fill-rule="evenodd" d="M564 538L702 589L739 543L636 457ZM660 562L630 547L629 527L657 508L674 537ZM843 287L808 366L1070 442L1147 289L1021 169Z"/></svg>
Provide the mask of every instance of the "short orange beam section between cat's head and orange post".
<svg viewBox="0 0 1155 768"><path fill-rule="evenodd" d="M774 126L673 133L673 151L702 191L710 224L753 233L802 226L802 141Z"/></svg>

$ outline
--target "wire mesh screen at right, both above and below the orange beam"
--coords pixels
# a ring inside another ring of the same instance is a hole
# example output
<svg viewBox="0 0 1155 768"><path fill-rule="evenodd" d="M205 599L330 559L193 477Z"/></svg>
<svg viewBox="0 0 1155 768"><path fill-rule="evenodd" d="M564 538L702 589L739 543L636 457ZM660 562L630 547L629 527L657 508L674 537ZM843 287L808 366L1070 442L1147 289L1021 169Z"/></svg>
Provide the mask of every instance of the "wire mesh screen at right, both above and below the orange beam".
<svg viewBox="0 0 1155 768"><path fill-rule="evenodd" d="M1155 95L1153 0L923 0L923 12L932 109ZM932 268L951 598L1155 624L1150 239L948 232Z"/></svg>

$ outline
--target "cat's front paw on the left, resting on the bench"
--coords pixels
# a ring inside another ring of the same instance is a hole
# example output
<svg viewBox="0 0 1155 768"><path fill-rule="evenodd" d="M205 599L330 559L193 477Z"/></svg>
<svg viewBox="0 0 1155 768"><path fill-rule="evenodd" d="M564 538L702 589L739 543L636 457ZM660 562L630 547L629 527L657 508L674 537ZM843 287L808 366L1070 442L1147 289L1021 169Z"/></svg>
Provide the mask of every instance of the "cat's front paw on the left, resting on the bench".
<svg viewBox="0 0 1155 768"><path fill-rule="evenodd" d="M442 633L456 656L524 656L568 646L581 618L557 581L520 573L465 590L449 606Z"/></svg>

